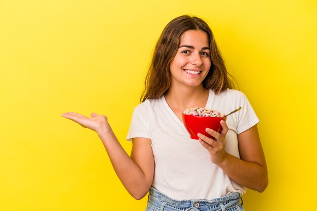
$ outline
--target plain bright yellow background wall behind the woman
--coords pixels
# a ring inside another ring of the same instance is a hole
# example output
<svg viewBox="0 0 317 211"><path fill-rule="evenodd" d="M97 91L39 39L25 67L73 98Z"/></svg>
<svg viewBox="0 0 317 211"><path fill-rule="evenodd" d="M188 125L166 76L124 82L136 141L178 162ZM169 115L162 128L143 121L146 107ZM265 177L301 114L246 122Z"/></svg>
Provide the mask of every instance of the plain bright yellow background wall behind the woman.
<svg viewBox="0 0 317 211"><path fill-rule="evenodd" d="M314 0L1 0L0 210L144 210L97 135L61 114L105 114L130 153L154 44L183 14L210 24L261 120L269 186L248 190L245 209L314 210L316 11Z"/></svg>

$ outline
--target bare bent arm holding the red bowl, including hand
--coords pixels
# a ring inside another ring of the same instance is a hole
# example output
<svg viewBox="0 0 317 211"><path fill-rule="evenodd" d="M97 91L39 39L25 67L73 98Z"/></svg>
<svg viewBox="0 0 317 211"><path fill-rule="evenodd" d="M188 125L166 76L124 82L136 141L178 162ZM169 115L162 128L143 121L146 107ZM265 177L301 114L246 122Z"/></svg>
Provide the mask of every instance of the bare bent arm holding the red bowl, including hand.
<svg viewBox="0 0 317 211"><path fill-rule="evenodd" d="M268 176L257 126L255 125L237 136L241 157L238 159L224 150L228 127L224 121L221 121L221 125L223 130L220 133L206 129L216 140L199 134L200 142L208 149L211 161L235 182L263 192L268 184Z"/></svg>

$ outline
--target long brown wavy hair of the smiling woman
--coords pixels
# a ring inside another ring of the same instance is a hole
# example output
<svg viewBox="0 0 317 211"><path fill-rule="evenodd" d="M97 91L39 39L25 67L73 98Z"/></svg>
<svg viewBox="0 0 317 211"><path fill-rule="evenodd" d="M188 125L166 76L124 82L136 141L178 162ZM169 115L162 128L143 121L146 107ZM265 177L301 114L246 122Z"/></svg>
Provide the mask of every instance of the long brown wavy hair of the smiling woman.
<svg viewBox="0 0 317 211"><path fill-rule="evenodd" d="M170 65L179 47L181 35L188 30L202 30L208 35L211 67L203 86L214 90L216 94L227 88L234 88L208 24L195 16L183 15L167 24L156 43L140 102L160 98L168 91L171 84Z"/></svg>

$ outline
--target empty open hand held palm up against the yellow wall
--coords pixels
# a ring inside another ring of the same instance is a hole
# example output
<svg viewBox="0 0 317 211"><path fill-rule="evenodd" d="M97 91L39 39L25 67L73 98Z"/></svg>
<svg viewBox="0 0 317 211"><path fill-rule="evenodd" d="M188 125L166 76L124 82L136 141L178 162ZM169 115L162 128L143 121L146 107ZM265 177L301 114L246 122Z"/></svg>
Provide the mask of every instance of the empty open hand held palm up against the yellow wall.
<svg viewBox="0 0 317 211"><path fill-rule="evenodd" d="M98 115L95 113L92 113L90 118L81 114L73 113L73 112L64 113L62 114L62 117L72 120L80 124L84 128L89 128L91 130L94 130L97 133L99 129L101 129L102 127L109 126L106 116Z"/></svg>

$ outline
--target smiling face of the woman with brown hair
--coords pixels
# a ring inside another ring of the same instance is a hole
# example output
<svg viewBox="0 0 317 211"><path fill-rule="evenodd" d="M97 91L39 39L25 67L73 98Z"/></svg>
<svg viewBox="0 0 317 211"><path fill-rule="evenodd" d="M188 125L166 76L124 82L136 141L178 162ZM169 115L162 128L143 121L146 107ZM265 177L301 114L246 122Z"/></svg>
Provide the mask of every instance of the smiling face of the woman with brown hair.
<svg viewBox="0 0 317 211"><path fill-rule="evenodd" d="M180 45L170 65L171 86L202 85L211 66L208 35L201 30L188 30L180 37Z"/></svg>

